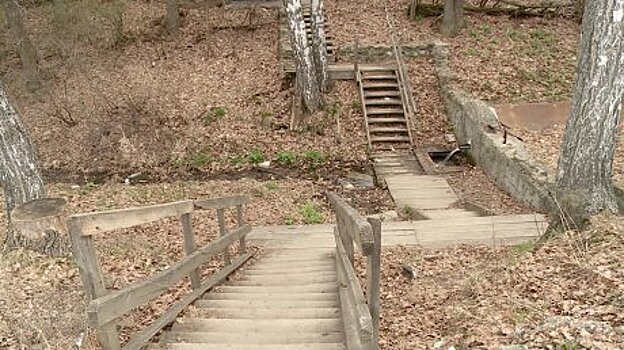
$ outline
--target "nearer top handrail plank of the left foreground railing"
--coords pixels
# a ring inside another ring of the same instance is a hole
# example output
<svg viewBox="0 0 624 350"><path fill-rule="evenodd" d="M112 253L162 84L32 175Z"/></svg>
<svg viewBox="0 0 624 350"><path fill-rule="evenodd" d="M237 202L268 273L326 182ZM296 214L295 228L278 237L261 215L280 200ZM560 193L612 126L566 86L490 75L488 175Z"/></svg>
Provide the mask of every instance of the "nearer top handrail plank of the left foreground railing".
<svg viewBox="0 0 624 350"><path fill-rule="evenodd" d="M82 235L88 236L106 231L147 224L193 211L192 201L150 205L140 208L117 209L71 215L67 220Z"/></svg>

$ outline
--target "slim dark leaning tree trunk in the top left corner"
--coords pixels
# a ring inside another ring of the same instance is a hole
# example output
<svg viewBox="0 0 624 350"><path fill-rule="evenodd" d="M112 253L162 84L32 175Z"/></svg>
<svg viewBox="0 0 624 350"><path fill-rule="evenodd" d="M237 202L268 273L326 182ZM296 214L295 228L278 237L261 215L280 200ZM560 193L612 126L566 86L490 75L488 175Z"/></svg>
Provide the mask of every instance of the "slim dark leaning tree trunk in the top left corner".
<svg viewBox="0 0 624 350"><path fill-rule="evenodd" d="M11 30L13 40L17 43L20 60L29 88L35 91L41 85L39 79L39 67L37 65L37 51L26 34L24 23L22 22L22 14L17 0L0 0L4 3L4 9L7 16L7 22Z"/></svg>

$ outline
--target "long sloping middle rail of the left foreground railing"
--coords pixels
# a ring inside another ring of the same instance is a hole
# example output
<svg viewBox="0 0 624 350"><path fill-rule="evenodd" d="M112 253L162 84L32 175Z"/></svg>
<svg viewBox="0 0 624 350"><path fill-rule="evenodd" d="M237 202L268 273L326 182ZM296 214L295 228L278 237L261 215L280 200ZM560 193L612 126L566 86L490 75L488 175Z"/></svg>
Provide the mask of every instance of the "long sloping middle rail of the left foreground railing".
<svg viewBox="0 0 624 350"><path fill-rule="evenodd" d="M251 226L249 225L238 228L227 236L221 237L204 248L196 250L169 269L147 280L133 283L122 290L91 301L88 307L91 321L95 325L107 324L133 308L159 296L167 288L190 274L208 259L221 253L225 247L240 239L241 236L249 231L251 231Z"/></svg>

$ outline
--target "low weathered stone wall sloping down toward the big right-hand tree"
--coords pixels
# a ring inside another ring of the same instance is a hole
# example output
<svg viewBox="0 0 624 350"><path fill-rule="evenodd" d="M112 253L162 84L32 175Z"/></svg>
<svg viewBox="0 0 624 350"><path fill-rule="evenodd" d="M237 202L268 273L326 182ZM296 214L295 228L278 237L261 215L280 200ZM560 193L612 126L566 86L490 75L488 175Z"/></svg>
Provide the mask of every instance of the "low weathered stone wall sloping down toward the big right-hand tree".
<svg viewBox="0 0 624 350"><path fill-rule="evenodd" d="M447 117L458 142L471 143L470 155L475 164L499 187L521 203L540 212L549 212L553 208L554 179L546 167L516 138L508 136L503 144L503 131L494 108L455 86L446 44L434 43L431 55Z"/></svg>

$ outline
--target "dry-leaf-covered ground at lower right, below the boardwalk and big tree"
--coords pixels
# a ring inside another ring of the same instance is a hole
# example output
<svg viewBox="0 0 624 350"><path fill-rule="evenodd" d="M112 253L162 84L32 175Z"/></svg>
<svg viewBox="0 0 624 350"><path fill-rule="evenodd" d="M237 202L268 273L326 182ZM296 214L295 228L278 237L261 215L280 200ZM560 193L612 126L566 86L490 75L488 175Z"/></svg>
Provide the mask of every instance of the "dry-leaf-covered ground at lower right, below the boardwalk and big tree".
<svg viewBox="0 0 624 350"><path fill-rule="evenodd" d="M620 349L622 224L599 217L539 246L384 251L382 349Z"/></svg>

